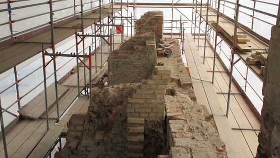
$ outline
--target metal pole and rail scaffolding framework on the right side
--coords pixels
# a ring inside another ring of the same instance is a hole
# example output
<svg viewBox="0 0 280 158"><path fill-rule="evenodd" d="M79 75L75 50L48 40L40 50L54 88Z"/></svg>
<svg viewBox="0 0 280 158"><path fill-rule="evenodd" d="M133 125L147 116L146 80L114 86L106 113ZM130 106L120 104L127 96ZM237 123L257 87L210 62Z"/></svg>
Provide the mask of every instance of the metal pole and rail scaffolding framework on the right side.
<svg viewBox="0 0 280 158"><path fill-rule="evenodd" d="M221 2L224 2L223 4ZM253 32L253 26L254 26L254 19L258 19L266 24L269 24L269 25L274 25L270 22L267 22L261 18L258 18L258 17L255 17L254 14L255 12L257 13L260 13L260 14L263 14L263 15L267 15L267 16L270 16L270 17L273 17L273 18L277 18L277 15L274 15L274 14L271 14L271 13L267 13L267 12L264 12L264 11L261 11L261 10L258 10L256 9L256 3L264 3L264 4L269 4L269 5L274 5L274 6L277 6L278 4L275 4L275 3L270 3L270 2L266 2L266 1L260 1L260 0L254 0L254 5L253 5L253 8L251 7L247 7L245 5L242 5L239 3L239 0L237 0L236 2L230 2L228 0L207 0L207 3L206 4L203 4L202 3L202 0L193 0L193 4L196 4L196 6L193 6L193 12L192 12L192 19L195 20L195 24L194 24L194 28L192 27L191 28L191 32L192 30L194 30L194 40L196 40L196 28L198 28L199 30L199 35L198 35L198 47L199 47L199 42L201 40L200 38L200 31L202 30L201 28L201 23L204 21L205 22L205 37L204 37L204 57L203 57L203 63L205 63L205 52L206 52L206 42L210 42L210 35L211 35L211 31L214 31L214 37L212 37L213 39L213 42L212 42L212 46L213 46L213 49L214 49L214 57L213 57L213 67L212 67L212 84L214 84L214 74L215 74L215 60L216 60L216 55L220 54L222 50L222 42L224 41L230 48L231 48L231 55L230 55L230 66L229 66L229 75L230 75L230 79L229 79L229 89L228 89L228 99L227 99L227 111L226 111L226 117L228 117L228 112L229 112L229 107L230 107L230 97L231 97L231 85L232 85L232 81L234 82L237 82L235 79L233 79L233 72L234 72L234 67L235 67L235 64L237 62L239 62L240 60L243 60L245 65L246 65L246 74L245 74L245 77L244 77L244 80L245 80L245 90L242 90L243 91L243 94L245 94L246 92L246 87L249 85L250 87L251 84L248 82L247 80L247 77L248 77L248 70L250 69L259 79L261 79L263 81L264 77L261 76L259 74L259 69L253 67L253 66L250 66L244 59L244 57L241 57L239 56L239 58L235 61L235 56L236 55L239 55L241 53L241 51L239 49L237 49L237 32L238 32L238 29L241 29L243 30L245 33L249 34L250 36L252 36L254 39L256 40L259 40L264 46L268 46L269 44L269 40L266 40L265 38L261 37L260 35L258 35L257 33ZM233 4L235 5L235 7L230 7L228 6L227 4ZM211 5L211 6L210 6ZM220 11L220 7L221 5L223 6L223 13ZM200 7L198 7L200 6ZM227 17L225 14L224 14L224 10L225 10L225 7L227 8L230 8L230 9L233 9L234 10L234 19L230 19L229 17ZM241 11L240 10L240 7L244 8L244 9L247 9L247 10L251 10L252 11L252 15L246 13L245 11ZM206 10L203 10L205 9ZM216 8L216 9L214 9ZM202 11L204 11L204 13L202 13ZM209 15L209 13L211 12L215 12L216 15ZM205 16L205 12L206 12L206 16ZM251 24L251 27L250 29L249 28L246 28L244 25L242 25L241 23L239 23L238 21L238 17L239 17L239 13L243 13L249 17L252 18L252 24ZM215 21L215 26L214 27L213 25L211 25L211 23L213 23L212 21L209 21L209 16L216 16L216 21ZM223 18L226 18L228 20L229 23L234 23L234 36L233 36L233 41L230 41L225 35L223 35L221 33L221 31L219 30L219 22L220 22L220 16L223 16ZM194 17L194 18L193 18ZM199 25L197 26L196 23L197 23L197 20L199 18ZM202 20L203 19L203 20ZM207 28L210 27L210 29L208 30ZM210 32L210 33L209 33ZM193 32L192 32L193 33ZM217 48L219 47L219 53L217 52ZM257 50L257 49L255 49ZM264 50L264 49L261 49L261 50ZM238 70L237 70L238 71ZM240 73L240 71L238 71L238 73ZM241 74L241 73L240 73ZM242 75L242 74L241 74ZM240 87L240 89L242 89ZM253 91L257 94L256 90L253 89ZM261 96L259 96L259 99L262 100ZM252 105L251 101L249 100L249 98L246 96L245 94L245 98L246 98L246 101L251 105L251 108L253 109L253 111L255 112L255 115L258 116L258 118L260 118L260 114L257 112L257 110L255 109L255 107Z"/></svg>

